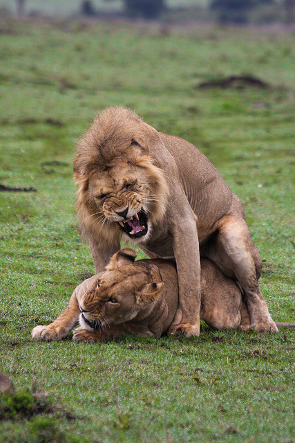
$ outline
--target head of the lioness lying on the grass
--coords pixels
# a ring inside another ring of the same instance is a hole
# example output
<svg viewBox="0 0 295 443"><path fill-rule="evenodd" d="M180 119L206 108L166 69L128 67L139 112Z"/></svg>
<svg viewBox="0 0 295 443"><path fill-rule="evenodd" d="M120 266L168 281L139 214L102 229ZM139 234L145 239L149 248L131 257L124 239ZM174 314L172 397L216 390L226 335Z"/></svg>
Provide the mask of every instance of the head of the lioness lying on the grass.
<svg viewBox="0 0 295 443"><path fill-rule="evenodd" d="M158 267L134 266L135 257L130 248L113 255L96 287L84 294L79 302L79 323L84 329L132 320L158 298L164 284Z"/></svg>

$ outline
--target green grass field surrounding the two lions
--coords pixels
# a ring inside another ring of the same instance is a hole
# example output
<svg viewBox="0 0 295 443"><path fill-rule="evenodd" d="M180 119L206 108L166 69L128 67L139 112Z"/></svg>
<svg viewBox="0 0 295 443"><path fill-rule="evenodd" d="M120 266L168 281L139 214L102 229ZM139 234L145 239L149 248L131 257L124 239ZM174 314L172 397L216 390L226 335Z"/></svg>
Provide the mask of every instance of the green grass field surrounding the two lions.
<svg viewBox="0 0 295 443"><path fill-rule="evenodd" d="M32 341L94 273L75 216L75 143L126 105L191 141L245 204L276 320L294 320L294 35L1 22L0 442L294 442L294 332ZM254 75L267 86L200 89ZM38 396L36 392L48 394Z"/></svg>

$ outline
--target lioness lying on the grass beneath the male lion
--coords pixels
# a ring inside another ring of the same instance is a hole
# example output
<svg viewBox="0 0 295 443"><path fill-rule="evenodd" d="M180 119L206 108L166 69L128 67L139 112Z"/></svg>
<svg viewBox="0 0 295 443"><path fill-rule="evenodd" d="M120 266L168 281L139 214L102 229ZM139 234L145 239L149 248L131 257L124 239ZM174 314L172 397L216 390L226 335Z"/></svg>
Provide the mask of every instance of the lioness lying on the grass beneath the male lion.
<svg viewBox="0 0 295 443"><path fill-rule="evenodd" d="M32 337L60 340L78 320L76 341L102 341L126 333L160 337L169 331L178 307L175 263L134 262L135 257L130 248L113 255L105 271L79 284L57 320L36 326ZM251 327L238 285L206 259L201 259L200 317L216 329Z"/></svg>

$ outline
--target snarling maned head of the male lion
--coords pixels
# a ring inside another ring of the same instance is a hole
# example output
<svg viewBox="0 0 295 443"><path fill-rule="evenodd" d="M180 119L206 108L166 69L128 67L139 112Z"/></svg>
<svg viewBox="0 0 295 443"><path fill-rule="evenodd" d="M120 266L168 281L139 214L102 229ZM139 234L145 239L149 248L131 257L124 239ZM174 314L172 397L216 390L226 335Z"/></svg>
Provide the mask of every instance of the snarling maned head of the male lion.
<svg viewBox="0 0 295 443"><path fill-rule="evenodd" d="M84 237L113 242L124 234L144 242L164 217L168 187L145 133L149 125L117 107L99 114L79 141L74 173Z"/></svg>

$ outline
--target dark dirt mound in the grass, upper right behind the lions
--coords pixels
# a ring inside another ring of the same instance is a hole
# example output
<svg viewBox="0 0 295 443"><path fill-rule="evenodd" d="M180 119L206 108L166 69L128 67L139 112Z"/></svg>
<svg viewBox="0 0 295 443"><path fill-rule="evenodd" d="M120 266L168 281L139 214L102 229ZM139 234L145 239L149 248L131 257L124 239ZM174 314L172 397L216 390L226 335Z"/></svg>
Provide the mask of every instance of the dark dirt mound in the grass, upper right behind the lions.
<svg viewBox="0 0 295 443"><path fill-rule="evenodd" d="M255 87L255 88L267 88L269 84L254 77L253 75L230 75L229 77L223 79L209 80L208 82L202 82L198 85L199 89L209 89L209 88L238 88L242 89L245 87Z"/></svg>

